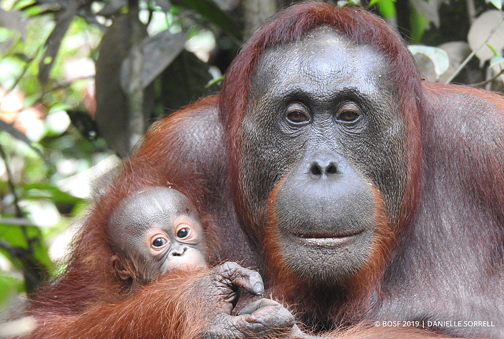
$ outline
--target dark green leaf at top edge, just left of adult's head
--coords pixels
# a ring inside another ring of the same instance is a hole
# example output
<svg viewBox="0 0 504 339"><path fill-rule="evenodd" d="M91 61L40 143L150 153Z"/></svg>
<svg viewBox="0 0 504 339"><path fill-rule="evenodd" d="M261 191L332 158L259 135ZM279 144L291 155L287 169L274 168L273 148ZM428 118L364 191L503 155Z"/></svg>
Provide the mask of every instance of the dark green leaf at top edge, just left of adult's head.
<svg viewBox="0 0 504 339"><path fill-rule="evenodd" d="M220 26L229 34L240 39L240 29L233 19L228 17L221 9L211 0L178 0L176 3L187 7L202 17L210 20L212 23Z"/></svg>

